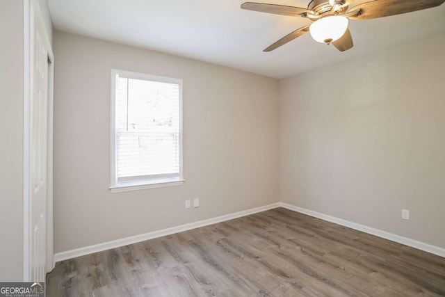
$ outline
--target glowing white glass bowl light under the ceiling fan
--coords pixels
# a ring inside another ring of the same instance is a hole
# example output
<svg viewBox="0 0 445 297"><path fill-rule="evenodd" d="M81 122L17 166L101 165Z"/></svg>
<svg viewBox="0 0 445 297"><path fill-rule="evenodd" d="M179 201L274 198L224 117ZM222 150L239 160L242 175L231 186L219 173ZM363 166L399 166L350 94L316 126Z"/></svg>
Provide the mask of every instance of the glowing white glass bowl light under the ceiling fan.
<svg viewBox="0 0 445 297"><path fill-rule="evenodd" d="M348 18L328 15L312 23L309 32L315 41L329 45L330 42L341 38L346 29L348 29Z"/></svg>

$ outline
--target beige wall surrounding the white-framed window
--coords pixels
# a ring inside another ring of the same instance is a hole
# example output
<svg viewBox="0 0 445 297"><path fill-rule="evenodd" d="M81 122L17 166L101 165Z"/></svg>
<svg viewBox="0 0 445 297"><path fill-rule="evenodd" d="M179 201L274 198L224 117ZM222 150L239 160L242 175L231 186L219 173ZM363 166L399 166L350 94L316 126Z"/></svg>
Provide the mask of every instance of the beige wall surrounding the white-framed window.
<svg viewBox="0 0 445 297"><path fill-rule="evenodd" d="M56 252L278 202L277 80L60 31L54 53ZM183 186L110 193L111 68L184 79Z"/></svg>

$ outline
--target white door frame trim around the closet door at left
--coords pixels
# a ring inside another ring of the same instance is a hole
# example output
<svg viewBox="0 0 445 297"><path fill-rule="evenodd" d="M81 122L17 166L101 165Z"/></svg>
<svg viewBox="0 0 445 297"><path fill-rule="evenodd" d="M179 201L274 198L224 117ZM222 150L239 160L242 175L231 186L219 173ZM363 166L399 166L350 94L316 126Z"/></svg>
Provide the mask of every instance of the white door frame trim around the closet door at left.
<svg viewBox="0 0 445 297"><path fill-rule="evenodd" d="M31 99L33 96L34 65L34 19L38 13L42 17L37 0L24 0L24 102L23 102L23 280L31 282ZM44 32L44 42L48 49L48 139L47 139L47 272L54 268L53 233L53 115L54 115L54 53L48 33Z"/></svg>

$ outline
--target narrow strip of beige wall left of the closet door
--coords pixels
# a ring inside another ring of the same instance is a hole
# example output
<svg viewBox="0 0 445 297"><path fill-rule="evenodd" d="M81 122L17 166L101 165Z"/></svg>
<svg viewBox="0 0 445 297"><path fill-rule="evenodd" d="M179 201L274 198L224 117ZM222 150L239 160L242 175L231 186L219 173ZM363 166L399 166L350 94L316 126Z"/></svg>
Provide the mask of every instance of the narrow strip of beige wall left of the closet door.
<svg viewBox="0 0 445 297"><path fill-rule="evenodd" d="M0 0L0 282L23 280L23 1Z"/></svg>

